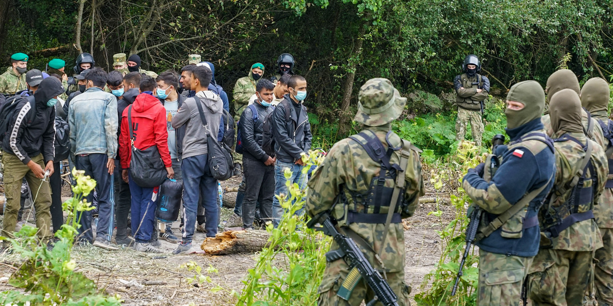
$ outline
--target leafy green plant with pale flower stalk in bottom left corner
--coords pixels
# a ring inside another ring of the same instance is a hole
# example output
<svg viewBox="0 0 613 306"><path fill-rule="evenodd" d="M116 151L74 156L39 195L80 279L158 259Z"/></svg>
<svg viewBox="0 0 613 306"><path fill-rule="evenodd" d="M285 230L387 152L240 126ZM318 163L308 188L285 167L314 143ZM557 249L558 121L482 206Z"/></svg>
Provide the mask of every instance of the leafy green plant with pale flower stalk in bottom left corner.
<svg viewBox="0 0 613 306"><path fill-rule="evenodd" d="M23 262L9 278L9 285L21 291L9 290L0 293L0 304L11 305L74 305L74 306L114 306L120 305L118 297L106 297L97 293L96 284L85 275L75 272L76 263L70 258L70 250L79 225L75 215L94 207L84 200L96 186L96 181L85 176L83 171L73 171L77 185L72 187L75 196L62 204L68 212L66 224L55 234L59 239L52 250L40 245L36 237L37 229L25 225L15 235L15 239L0 237L9 241L13 252L18 253Z"/></svg>

